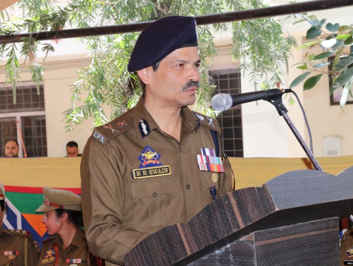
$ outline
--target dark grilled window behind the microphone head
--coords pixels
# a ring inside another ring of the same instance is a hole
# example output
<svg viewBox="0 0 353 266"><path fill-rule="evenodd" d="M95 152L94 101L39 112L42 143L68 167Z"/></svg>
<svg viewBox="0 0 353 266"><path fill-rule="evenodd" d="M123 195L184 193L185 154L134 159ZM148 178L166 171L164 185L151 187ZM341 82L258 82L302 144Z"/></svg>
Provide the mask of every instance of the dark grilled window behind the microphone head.
<svg viewBox="0 0 353 266"><path fill-rule="evenodd" d="M240 72L238 69L213 70L209 72L216 85L217 93L240 93ZM221 127L222 149L230 157L243 157L241 107L237 105L221 112L217 118Z"/></svg>

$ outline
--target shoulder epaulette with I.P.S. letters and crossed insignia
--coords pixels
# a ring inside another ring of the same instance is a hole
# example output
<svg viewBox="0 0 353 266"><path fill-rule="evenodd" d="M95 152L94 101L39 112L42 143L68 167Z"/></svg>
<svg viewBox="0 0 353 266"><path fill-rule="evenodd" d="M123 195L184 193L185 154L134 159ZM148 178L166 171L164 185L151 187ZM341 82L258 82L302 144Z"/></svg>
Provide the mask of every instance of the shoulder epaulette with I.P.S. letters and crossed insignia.
<svg viewBox="0 0 353 266"><path fill-rule="evenodd" d="M92 136L96 138L100 143L107 145L110 139L121 135L133 127L134 125L132 113L127 111L111 122L100 127L96 127L92 132Z"/></svg>

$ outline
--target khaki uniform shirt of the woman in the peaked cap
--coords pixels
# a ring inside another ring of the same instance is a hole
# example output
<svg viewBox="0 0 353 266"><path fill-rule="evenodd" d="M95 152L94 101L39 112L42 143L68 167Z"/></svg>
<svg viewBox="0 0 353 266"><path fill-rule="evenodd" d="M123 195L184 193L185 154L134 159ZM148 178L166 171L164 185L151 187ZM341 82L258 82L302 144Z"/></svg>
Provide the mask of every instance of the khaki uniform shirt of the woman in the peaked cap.
<svg viewBox="0 0 353 266"><path fill-rule="evenodd" d="M56 251L58 254L56 254ZM69 266L69 265L102 265L88 250L85 233L79 228L71 244L64 250L59 235L43 241L41 257L38 266Z"/></svg>

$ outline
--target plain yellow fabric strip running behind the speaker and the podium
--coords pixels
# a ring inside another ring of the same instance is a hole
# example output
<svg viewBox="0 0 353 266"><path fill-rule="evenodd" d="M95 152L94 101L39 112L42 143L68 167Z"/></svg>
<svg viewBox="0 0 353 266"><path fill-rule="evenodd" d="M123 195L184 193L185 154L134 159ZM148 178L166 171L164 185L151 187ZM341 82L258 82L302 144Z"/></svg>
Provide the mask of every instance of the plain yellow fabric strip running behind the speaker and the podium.
<svg viewBox="0 0 353 266"><path fill-rule="evenodd" d="M235 188L261 186L289 171L310 169L302 158L229 158ZM324 171L338 174L353 165L353 156L317 158ZM80 187L80 162L76 158L0 158L0 182L14 186Z"/></svg>

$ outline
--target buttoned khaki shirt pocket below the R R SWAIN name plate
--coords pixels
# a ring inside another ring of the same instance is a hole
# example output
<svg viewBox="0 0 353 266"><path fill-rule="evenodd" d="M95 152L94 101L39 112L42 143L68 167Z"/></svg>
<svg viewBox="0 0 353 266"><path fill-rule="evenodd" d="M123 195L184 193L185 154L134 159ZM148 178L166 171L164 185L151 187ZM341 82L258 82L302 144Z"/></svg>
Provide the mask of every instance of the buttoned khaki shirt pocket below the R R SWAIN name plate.
<svg viewBox="0 0 353 266"><path fill-rule="evenodd" d="M131 182L134 222L137 226L170 225L177 217L171 177L157 177Z"/></svg>

